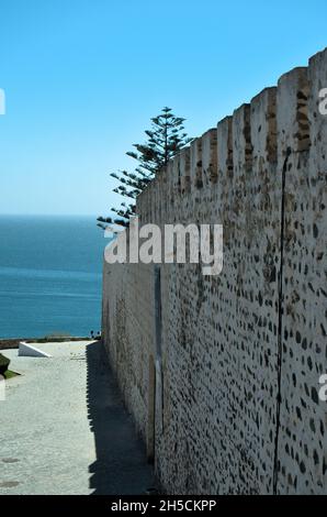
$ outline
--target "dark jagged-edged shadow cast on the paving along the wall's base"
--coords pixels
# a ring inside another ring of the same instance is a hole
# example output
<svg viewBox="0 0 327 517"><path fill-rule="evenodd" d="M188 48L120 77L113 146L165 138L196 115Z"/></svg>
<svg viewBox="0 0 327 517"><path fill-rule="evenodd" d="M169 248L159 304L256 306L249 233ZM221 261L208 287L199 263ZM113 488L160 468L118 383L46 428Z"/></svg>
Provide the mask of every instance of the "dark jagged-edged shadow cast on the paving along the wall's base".
<svg viewBox="0 0 327 517"><path fill-rule="evenodd" d="M88 414L97 461L89 466L93 495L143 494L154 485L151 466L125 410L101 341L87 346Z"/></svg>

